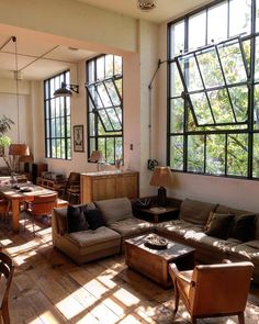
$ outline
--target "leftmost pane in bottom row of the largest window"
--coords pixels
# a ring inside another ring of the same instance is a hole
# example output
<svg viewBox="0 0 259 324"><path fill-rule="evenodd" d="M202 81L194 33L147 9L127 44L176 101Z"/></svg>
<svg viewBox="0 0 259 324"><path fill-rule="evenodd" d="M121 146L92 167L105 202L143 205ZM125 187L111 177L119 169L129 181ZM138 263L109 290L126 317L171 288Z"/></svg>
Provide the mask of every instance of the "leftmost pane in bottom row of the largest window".
<svg viewBox="0 0 259 324"><path fill-rule="evenodd" d="M174 170L183 170L183 136L171 136L170 167Z"/></svg>

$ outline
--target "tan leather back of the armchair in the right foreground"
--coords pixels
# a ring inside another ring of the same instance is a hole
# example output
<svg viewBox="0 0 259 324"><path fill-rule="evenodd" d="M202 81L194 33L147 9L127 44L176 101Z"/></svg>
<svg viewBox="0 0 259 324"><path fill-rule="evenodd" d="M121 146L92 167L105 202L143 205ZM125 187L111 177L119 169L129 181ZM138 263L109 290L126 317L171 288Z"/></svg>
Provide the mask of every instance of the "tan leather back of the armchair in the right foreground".
<svg viewBox="0 0 259 324"><path fill-rule="evenodd" d="M249 261L196 266L189 291L192 314L244 312L252 270Z"/></svg>

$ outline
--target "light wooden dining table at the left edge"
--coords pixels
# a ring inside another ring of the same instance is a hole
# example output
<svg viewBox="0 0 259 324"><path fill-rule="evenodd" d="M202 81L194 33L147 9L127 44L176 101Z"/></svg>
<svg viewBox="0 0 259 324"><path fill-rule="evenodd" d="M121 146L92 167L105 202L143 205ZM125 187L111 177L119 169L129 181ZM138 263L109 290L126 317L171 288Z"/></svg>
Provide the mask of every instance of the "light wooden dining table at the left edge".
<svg viewBox="0 0 259 324"><path fill-rule="evenodd" d="M30 188L32 191L22 192L21 190L13 189L11 186L0 187L0 192L11 201L12 206L12 230L19 232L19 220L20 220L20 202L32 201L35 195L53 193L53 190L42 188L34 185L20 186L20 188Z"/></svg>

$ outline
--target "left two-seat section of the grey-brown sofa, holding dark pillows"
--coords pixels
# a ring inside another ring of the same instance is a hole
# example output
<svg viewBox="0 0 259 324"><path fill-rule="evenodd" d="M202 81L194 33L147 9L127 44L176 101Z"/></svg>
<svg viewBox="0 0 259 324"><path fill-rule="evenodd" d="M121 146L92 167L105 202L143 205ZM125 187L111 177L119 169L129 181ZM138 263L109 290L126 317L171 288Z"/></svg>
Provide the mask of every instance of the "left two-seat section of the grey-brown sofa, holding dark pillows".
<svg viewBox="0 0 259 324"><path fill-rule="evenodd" d="M123 250L124 239L155 231L154 224L134 217L127 198L97 201L85 206L85 212L94 209L101 211L105 226L71 233L68 228L67 209L53 211L53 245L78 265L119 254Z"/></svg>

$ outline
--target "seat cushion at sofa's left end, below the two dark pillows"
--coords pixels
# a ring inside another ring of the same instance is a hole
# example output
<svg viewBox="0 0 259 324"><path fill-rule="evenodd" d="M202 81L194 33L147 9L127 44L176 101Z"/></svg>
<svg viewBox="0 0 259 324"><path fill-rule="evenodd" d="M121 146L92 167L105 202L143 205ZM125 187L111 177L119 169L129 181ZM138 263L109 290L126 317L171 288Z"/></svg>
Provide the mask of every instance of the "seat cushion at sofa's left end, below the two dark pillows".
<svg viewBox="0 0 259 324"><path fill-rule="evenodd" d="M121 241L121 235L119 233L105 226L98 227L95 231L88 230L70 233L67 234L67 237L79 247L102 245L113 239Z"/></svg>

